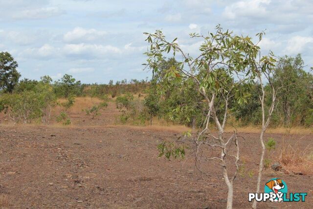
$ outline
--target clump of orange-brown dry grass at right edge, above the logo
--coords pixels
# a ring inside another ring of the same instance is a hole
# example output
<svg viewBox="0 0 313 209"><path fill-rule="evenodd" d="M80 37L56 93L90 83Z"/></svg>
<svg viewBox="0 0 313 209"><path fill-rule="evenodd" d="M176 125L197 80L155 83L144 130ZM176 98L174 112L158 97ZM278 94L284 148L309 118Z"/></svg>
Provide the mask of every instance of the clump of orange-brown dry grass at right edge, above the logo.
<svg viewBox="0 0 313 209"><path fill-rule="evenodd" d="M313 150L298 148L297 144L283 143L279 162L287 172L299 175L313 174Z"/></svg>

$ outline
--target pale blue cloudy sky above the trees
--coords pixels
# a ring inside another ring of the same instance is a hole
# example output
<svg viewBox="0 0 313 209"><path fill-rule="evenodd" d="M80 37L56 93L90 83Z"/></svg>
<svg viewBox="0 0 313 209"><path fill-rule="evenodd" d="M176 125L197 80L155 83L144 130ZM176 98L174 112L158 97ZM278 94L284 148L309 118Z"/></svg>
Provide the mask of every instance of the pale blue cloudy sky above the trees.
<svg viewBox="0 0 313 209"><path fill-rule="evenodd" d="M0 0L0 51L19 64L22 78L83 83L146 79L143 32L162 29L191 55L217 24L235 34L266 30L262 53L302 54L313 67L313 0ZM255 38L257 40L257 38Z"/></svg>

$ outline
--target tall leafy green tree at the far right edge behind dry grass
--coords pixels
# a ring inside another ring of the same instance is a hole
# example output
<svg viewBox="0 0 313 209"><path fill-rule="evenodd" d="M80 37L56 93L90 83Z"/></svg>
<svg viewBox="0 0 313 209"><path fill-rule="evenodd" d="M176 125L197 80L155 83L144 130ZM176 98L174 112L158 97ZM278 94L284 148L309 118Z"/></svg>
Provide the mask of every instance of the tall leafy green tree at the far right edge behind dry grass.
<svg viewBox="0 0 313 209"><path fill-rule="evenodd" d="M273 85L278 90L277 114L282 115L285 126L291 126L296 119L297 125L303 124L306 113L313 108L309 93L312 75L303 70L303 67L304 61L300 54L281 57L276 65Z"/></svg>

